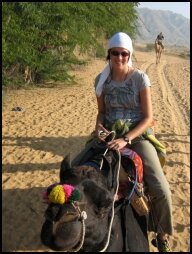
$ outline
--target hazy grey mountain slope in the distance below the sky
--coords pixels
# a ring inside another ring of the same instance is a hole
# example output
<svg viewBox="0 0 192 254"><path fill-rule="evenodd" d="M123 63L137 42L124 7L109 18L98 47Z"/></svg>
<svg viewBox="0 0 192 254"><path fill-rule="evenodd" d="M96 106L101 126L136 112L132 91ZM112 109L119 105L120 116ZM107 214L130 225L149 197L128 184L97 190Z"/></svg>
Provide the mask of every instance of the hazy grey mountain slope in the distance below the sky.
<svg viewBox="0 0 192 254"><path fill-rule="evenodd" d="M137 8L138 35L135 42L154 43L162 32L165 45L190 48L190 20L172 11Z"/></svg>

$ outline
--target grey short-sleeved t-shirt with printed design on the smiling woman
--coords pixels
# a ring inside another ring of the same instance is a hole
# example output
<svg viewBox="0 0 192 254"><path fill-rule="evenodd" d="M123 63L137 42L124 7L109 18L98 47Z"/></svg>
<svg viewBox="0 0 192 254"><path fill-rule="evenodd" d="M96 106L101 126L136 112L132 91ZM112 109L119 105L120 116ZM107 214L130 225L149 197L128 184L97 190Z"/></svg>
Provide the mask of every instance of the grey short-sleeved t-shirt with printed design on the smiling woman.
<svg viewBox="0 0 192 254"><path fill-rule="evenodd" d="M95 79L95 87L99 77L100 74ZM130 123L141 121L143 113L139 93L149 86L148 75L138 69L124 81L114 81L109 76L103 86L106 123L114 123L118 119Z"/></svg>

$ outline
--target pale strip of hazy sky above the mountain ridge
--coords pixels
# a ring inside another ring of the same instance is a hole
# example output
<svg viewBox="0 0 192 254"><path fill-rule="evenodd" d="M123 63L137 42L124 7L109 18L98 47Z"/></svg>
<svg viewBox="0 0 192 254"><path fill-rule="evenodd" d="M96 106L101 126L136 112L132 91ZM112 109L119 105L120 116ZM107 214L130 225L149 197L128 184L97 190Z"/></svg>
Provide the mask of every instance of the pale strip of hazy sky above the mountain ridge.
<svg viewBox="0 0 192 254"><path fill-rule="evenodd" d="M139 8L149 8L152 10L168 10L190 19L190 2L139 2Z"/></svg>

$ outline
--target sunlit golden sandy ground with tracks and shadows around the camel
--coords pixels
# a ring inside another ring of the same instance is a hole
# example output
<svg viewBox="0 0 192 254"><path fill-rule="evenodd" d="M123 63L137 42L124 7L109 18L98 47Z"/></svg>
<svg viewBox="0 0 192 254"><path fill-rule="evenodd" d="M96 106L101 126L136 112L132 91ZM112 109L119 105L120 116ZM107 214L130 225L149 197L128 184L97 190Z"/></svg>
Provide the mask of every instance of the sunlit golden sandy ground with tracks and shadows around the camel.
<svg viewBox="0 0 192 254"><path fill-rule="evenodd" d="M157 66L154 52L135 52L135 57L134 66L150 77L156 134L167 147L163 170L173 196L175 231L170 244L174 252L189 252L189 61L163 55ZM59 180L63 157L77 154L94 129L93 80L104 65L93 59L74 70L77 86L7 93L2 113L3 251L47 251L40 242L46 209L42 192ZM16 106L25 111L12 111Z"/></svg>

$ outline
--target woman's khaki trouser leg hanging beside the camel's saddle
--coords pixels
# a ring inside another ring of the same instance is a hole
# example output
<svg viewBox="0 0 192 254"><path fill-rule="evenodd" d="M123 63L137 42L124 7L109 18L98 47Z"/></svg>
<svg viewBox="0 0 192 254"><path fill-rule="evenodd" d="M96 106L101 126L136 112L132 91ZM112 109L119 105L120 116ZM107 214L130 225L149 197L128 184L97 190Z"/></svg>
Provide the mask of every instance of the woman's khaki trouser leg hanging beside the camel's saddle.
<svg viewBox="0 0 192 254"><path fill-rule="evenodd" d="M152 200L153 214L149 218L149 231L158 234L173 234L172 201L169 183L163 173L157 151L148 141L142 140L131 148L137 152L144 167L144 183Z"/></svg>

